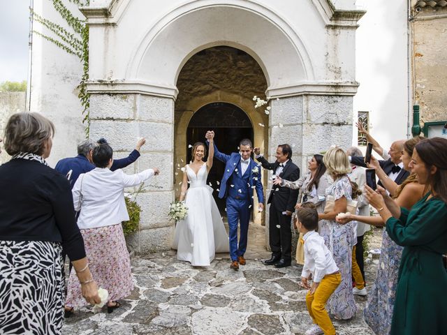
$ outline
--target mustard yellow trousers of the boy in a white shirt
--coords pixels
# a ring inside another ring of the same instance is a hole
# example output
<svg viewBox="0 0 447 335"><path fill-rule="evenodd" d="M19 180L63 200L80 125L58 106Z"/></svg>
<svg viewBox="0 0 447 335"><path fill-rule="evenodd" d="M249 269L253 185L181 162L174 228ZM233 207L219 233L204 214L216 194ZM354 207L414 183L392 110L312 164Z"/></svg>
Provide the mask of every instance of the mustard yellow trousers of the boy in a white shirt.
<svg viewBox="0 0 447 335"><path fill-rule="evenodd" d="M334 335L335 328L326 311L326 301L330 298L337 286L342 282L342 276L337 274L327 274L321 280L313 295L310 290L306 295L307 311L316 325L323 329L325 335Z"/></svg>

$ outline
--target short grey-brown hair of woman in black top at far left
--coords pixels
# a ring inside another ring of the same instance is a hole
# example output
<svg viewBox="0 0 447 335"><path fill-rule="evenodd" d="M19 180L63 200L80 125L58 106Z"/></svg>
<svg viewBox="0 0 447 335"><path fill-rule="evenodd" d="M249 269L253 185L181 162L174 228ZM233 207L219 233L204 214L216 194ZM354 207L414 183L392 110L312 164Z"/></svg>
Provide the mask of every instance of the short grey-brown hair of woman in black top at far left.
<svg viewBox="0 0 447 335"><path fill-rule="evenodd" d="M54 124L41 114L21 112L13 114L6 124L5 150L10 156L19 152L42 155L45 142L53 137Z"/></svg>

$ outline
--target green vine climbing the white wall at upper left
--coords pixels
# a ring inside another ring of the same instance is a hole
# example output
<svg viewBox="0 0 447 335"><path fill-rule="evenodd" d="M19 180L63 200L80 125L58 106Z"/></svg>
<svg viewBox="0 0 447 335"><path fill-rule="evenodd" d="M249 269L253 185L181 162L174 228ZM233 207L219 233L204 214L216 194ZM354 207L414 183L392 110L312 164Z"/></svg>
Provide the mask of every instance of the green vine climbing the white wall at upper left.
<svg viewBox="0 0 447 335"><path fill-rule="evenodd" d="M87 92L87 80L89 80L89 27L87 20L81 20L75 17L71 11L66 8L61 0L49 0L52 1L52 5L57 13L68 24L68 27L73 32L68 31L66 28L61 27L50 20L45 19L41 15L38 15L32 8L30 8L33 20L42 24L43 27L51 31L55 36L48 36L40 31L33 31L34 34L41 36L45 40L48 40L54 45L57 45L68 54L74 54L82 62L82 77L80 84L76 87L79 90L78 98L82 105L82 123L85 124L85 135L88 138L90 133L90 95ZM89 0L68 0L77 6L89 6Z"/></svg>

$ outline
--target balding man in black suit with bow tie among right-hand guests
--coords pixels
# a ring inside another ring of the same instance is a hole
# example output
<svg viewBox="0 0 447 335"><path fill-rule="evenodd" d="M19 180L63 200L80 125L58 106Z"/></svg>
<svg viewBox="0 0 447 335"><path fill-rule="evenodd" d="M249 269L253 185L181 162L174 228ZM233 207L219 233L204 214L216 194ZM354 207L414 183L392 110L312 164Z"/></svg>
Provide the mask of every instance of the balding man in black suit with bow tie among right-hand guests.
<svg viewBox="0 0 447 335"><path fill-rule="evenodd" d="M383 172L385 172L388 178L395 181L395 183L398 185L402 184L402 182L410 174L410 172L404 170L404 164L400 159L402 157L404 143L405 140L393 142L393 144L391 144L390 150L388 151L390 158L388 158L388 160L386 161L379 161ZM367 165L365 164L365 158L363 158L362 156L351 156L350 160L351 163L353 163L354 165L367 168ZM381 181L379 181L378 184L384 187Z"/></svg>

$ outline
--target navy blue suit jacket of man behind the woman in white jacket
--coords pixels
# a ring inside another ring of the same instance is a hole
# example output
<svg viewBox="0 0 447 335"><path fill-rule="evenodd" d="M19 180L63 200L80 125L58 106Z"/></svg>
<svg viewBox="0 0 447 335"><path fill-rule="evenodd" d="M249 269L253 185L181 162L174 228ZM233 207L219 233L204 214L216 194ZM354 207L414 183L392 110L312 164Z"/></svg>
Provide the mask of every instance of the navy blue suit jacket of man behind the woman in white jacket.
<svg viewBox="0 0 447 335"><path fill-rule="evenodd" d="M118 169L126 168L127 165L131 165L135 162L138 157L140 157L140 152L138 150L133 150L129 156L126 158L115 159L113 160L112 166L110 170L115 171ZM87 173L95 168L95 165L91 164L87 157L84 155L78 155L76 157L71 158L63 158L59 162L57 162L54 170L64 174L64 176L69 177L68 181L70 181L70 186L73 188L76 180L82 173ZM71 176L68 176L68 172L71 171Z"/></svg>

